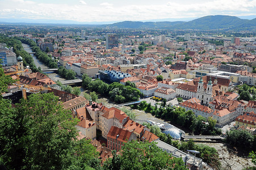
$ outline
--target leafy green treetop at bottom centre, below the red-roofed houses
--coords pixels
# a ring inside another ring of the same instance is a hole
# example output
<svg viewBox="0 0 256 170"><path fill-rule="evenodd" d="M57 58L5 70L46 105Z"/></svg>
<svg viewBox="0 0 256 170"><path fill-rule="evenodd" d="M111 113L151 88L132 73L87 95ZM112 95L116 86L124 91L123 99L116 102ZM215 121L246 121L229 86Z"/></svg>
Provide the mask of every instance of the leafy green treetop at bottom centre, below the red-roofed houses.
<svg viewBox="0 0 256 170"><path fill-rule="evenodd" d="M163 152L155 142L127 142L121 154L120 169L186 169L181 158Z"/></svg>

